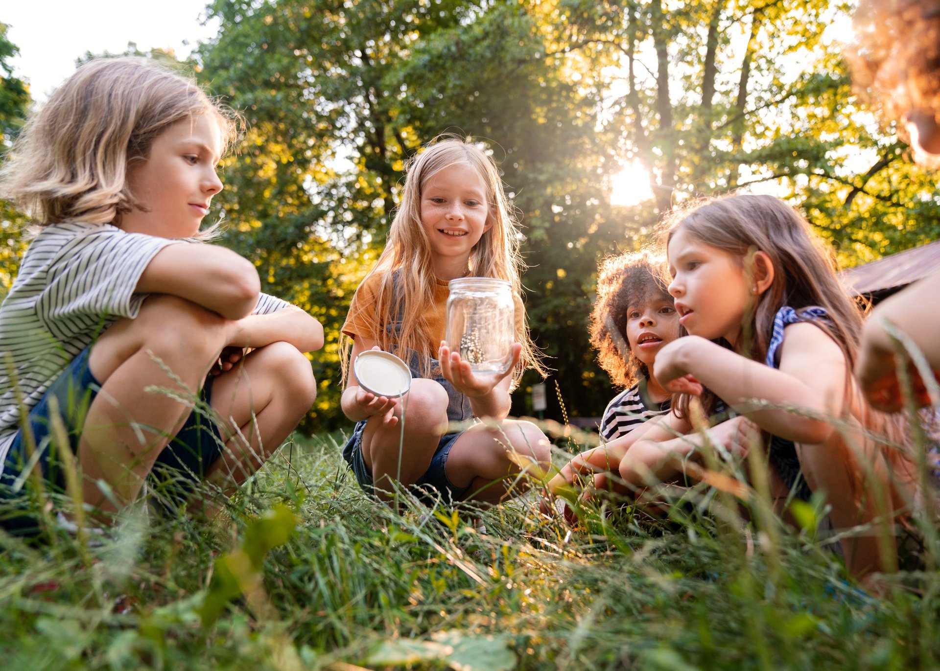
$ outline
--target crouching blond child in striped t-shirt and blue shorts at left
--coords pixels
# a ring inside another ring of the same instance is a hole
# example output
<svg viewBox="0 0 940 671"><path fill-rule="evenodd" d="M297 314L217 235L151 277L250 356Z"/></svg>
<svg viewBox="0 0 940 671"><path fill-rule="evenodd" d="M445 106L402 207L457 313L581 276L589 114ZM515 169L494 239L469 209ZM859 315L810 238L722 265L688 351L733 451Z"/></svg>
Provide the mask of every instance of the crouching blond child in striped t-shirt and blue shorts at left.
<svg viewBox="0 0 940 671"><path fill-rule="evenodd" d="M259 293L247 259L194 242L222 190L234 120L174 72L101 59L72 74L10 150L2 194L39 233L0 305L8 530L38 530L18 508L27 471L62 492L72 452L84 477L71 493L106 523L156 468L184 492L200 477L231 491L309 410L304 352L321 347L320 323ZM212 413L197 412L197 397Z"/></svg>

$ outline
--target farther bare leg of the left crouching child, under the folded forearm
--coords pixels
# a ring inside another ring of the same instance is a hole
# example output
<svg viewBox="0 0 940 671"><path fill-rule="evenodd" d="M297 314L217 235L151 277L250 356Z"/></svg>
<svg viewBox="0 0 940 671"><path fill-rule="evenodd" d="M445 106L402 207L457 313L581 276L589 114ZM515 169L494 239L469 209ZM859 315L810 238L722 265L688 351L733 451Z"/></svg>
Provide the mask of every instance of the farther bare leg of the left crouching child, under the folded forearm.
<svg viewBox="0 0 940 671"><path fill-rule="evenodd" d="M212 382L212 410L227 440L208 479L230 494L284 442L316 398L310 362L295 347L275 342L249 353Z"/></svg>

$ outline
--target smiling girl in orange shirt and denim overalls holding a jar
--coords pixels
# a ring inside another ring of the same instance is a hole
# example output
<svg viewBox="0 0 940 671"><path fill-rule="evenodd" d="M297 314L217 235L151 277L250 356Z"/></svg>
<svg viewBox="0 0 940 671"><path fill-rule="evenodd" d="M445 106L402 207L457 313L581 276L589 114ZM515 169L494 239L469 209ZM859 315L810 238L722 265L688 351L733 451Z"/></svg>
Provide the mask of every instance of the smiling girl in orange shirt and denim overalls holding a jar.
<svg viewBox="0 0 940 671"><path fill-rule="evenodd" d="M388 241L342 327L352 340L342 408L356 422L343 457L365 492L391 501L398 484L446 503L493 504L525 491L521 471L530 464L547 467L541 430L507 418L523 367L543 372L525 325L521 236L510 211L493 159L469 141L446 137L408 164ZM466 276L511 287L518 341L503 374L474 373L443 341L448 281ZM397 353L411 368L404 398L359 386L352 364L373 349ZM490 421L450 426L474 417Z"/></svg>

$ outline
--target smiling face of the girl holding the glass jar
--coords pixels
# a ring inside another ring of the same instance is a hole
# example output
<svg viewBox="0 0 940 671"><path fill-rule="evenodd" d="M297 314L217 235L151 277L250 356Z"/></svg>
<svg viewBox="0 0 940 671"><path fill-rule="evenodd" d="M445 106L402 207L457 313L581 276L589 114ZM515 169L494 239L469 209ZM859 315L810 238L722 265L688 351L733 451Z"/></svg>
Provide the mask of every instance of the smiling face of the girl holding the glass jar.
<svg viewBox="0 0 940 671"><path fill-rule="evenodd" d="M470 164L448 165L422 185L421 226L439 279L466 273L470 252L492 226L489 213L486 182Z"/></svg>

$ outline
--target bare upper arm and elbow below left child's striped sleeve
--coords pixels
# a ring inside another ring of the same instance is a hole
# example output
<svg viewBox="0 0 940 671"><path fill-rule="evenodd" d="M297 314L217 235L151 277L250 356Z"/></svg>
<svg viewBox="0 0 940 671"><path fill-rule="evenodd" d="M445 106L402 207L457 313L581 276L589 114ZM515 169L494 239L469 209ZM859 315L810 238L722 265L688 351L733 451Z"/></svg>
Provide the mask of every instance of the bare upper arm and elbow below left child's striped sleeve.
<svg viewBox="0 0 940 671"><path fill-rule="evenodd" d="M137 281L137 293L165 293L240 320L255 309L261 289L254 264L214 244L180 242L161 249Z"/></svg>

